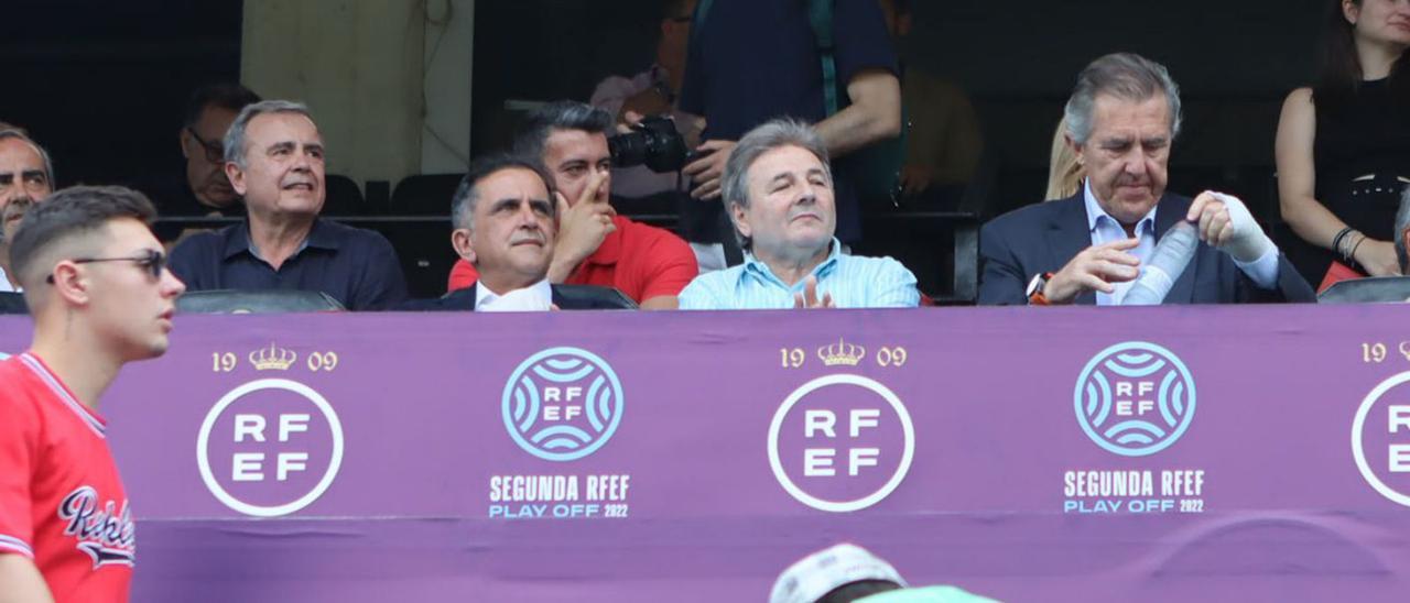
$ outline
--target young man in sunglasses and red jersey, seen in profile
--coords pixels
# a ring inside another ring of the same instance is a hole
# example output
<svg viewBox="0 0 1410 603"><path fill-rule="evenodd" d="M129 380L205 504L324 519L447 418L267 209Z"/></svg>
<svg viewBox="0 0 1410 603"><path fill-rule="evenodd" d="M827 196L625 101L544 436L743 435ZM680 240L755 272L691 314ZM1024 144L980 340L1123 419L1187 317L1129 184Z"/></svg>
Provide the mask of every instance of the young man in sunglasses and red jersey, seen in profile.
<svg viewBox="0 0 1410 603"><path fill-rule="evenodd" d="M28 352L0 361L0 602L125 602L133 510L99 397L131 361L166 351L186 289L121 187L61 190L10 245L34 316Z"/></svg>

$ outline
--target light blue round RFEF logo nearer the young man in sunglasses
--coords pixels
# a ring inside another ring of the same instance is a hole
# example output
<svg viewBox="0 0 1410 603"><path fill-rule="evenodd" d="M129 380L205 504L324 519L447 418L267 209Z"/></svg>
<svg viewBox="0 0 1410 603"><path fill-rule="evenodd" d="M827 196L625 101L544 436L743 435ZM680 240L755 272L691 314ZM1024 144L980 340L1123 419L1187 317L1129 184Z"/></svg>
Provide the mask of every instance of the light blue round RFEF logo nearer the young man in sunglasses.
<svg viewBox="0 0 1410 603"><path fill-rule="evenodd" d="M509 437L544 461L575 461L602 448L622 423L622 382L596 354L550 348L505 383Z"/></svg>

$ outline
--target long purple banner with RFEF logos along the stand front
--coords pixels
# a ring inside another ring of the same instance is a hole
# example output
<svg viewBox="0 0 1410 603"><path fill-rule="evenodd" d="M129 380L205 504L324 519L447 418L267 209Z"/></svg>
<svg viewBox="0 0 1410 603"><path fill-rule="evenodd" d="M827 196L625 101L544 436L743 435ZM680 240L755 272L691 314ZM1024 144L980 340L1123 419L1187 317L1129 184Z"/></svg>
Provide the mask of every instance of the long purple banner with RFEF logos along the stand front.
<svg viewBox="0 0 1410 603"><path fill-rule="evenodd" d="M189 316L102 410L142 602L763 600L838 541L1004 600L1403 600L1406 313Z"/></svg>

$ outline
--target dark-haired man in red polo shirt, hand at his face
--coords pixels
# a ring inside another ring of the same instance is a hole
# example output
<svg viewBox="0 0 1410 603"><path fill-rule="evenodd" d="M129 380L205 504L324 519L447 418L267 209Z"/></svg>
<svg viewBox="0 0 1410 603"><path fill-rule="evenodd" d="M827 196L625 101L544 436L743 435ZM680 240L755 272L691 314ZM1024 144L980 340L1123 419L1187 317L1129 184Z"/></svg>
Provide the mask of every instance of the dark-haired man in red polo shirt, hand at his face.
<svg viewBox="0 0 1410 603"><path fill-rule="evenodd" d="M646 310L674 310L675 296L699 269L685 240L618 216L608 204L613 118L582 103L551 103L529 116L515 152L540 158L558 187L558 242L548 282L616 287ZM461 259L450 290L477 280Z"/></svg>

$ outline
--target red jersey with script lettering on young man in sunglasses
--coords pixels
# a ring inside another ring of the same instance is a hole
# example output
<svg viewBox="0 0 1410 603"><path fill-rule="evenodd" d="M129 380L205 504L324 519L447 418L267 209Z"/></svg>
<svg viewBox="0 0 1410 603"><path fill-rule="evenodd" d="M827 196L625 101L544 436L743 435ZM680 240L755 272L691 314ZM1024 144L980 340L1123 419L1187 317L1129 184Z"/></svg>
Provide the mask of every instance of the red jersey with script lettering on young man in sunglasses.
<svg viewBox="0 0 1410 603"><path fill-rule="evenodd" d="M102 417L32 354L0 361L0 554L34 559L58 603L125 602L133 511Z"/></svg>

